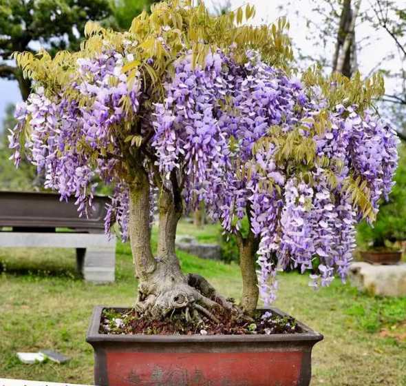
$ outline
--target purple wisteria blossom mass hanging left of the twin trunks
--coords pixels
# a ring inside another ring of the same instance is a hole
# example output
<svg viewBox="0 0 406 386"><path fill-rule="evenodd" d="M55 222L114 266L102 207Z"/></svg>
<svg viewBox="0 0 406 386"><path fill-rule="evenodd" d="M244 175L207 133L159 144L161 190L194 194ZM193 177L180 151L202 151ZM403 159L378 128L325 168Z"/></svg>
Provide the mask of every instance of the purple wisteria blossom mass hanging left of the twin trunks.
<svg viewBox="0 0 406 386"><path fill-rule="evenodd" d="M73 97L61 93L50 99L43 88L32 92L17 107L17 125L9 141L12 159L19 165L21 136L28 134L29 125L31 135L25 147L38 172L45 174L45 187L58 191L61 199L75 196L81 216L92 206L96 176L115 185L106 230L118 221L126 238L128 192L118 174L122 152L114 131L122 130L138 112L140 81L135 79L129 88L122 66L123 54L112 50L93 59L78 59L77 76L70 84ZM86 103L81 105L74 93ZM124 101L131 114L124 111Z"/></svg>

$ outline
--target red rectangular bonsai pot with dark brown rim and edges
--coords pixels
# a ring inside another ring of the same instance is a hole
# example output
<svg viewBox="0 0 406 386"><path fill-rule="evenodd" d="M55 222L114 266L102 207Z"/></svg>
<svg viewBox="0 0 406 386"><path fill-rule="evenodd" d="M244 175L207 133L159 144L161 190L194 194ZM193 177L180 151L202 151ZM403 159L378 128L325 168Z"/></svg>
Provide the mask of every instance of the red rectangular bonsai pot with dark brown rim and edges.
<svg viewBox="0 0 406 386"><path fill-rule="evenodd" d="M300 334L106 335L98 333L103 308L95 307L86 338L100 386L305 386L323 339L302 323Z"/></svg>

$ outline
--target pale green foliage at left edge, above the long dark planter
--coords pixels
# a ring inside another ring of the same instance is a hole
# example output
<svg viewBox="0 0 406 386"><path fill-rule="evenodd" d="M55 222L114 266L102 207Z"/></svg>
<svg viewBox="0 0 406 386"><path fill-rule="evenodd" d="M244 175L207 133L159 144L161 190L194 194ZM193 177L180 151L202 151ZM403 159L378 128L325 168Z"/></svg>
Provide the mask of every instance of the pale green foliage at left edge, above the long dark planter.
<svg viewBox="0 0 406 386"><path fill-rule="evenodd" d="M21 162L16 169L9 158L11 150L8 148L8 129L16 124L14 119L14 105L6 108L6 116L3 119L3 132L0 130L0 190L37 190L35 186L36 170L28 161Z"/></svg>

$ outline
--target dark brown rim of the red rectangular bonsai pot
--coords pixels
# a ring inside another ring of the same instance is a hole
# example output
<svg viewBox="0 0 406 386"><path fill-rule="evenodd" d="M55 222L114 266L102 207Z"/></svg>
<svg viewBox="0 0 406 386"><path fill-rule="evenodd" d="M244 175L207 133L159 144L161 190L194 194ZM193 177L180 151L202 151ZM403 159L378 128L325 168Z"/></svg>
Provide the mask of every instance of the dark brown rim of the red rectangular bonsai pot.
<svg viewBox="0 0 406 386"><path fill-rule="evenodd" d="M87 343L255 343L255 342L306 342L317 343L323 340L323 335L315 332L307 325L297 321L303 332L295 334L245 334L245 335L146 335L146 334L100 334L100 318L105 308L122 311L130 307L107 307L105 305L94 306L92 320L86 334ZM260 308L264 311L272 311L279 316L290 316L276 307Z"/></svg>

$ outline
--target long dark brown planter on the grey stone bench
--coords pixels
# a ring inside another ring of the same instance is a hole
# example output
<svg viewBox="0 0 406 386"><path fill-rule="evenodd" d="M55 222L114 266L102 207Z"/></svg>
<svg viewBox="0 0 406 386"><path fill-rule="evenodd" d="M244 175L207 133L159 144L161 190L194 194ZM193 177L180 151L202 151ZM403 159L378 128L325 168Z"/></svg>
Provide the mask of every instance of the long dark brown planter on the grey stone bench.
<svg viewBox="0 0 406 386"><path fill-rule="evenodd" d="M95 196L89 216L79 217L76 199L60 201L60 195L46 192L0 192L0 227L17 230L69 227L103 232L109 198Z"/></svg>

